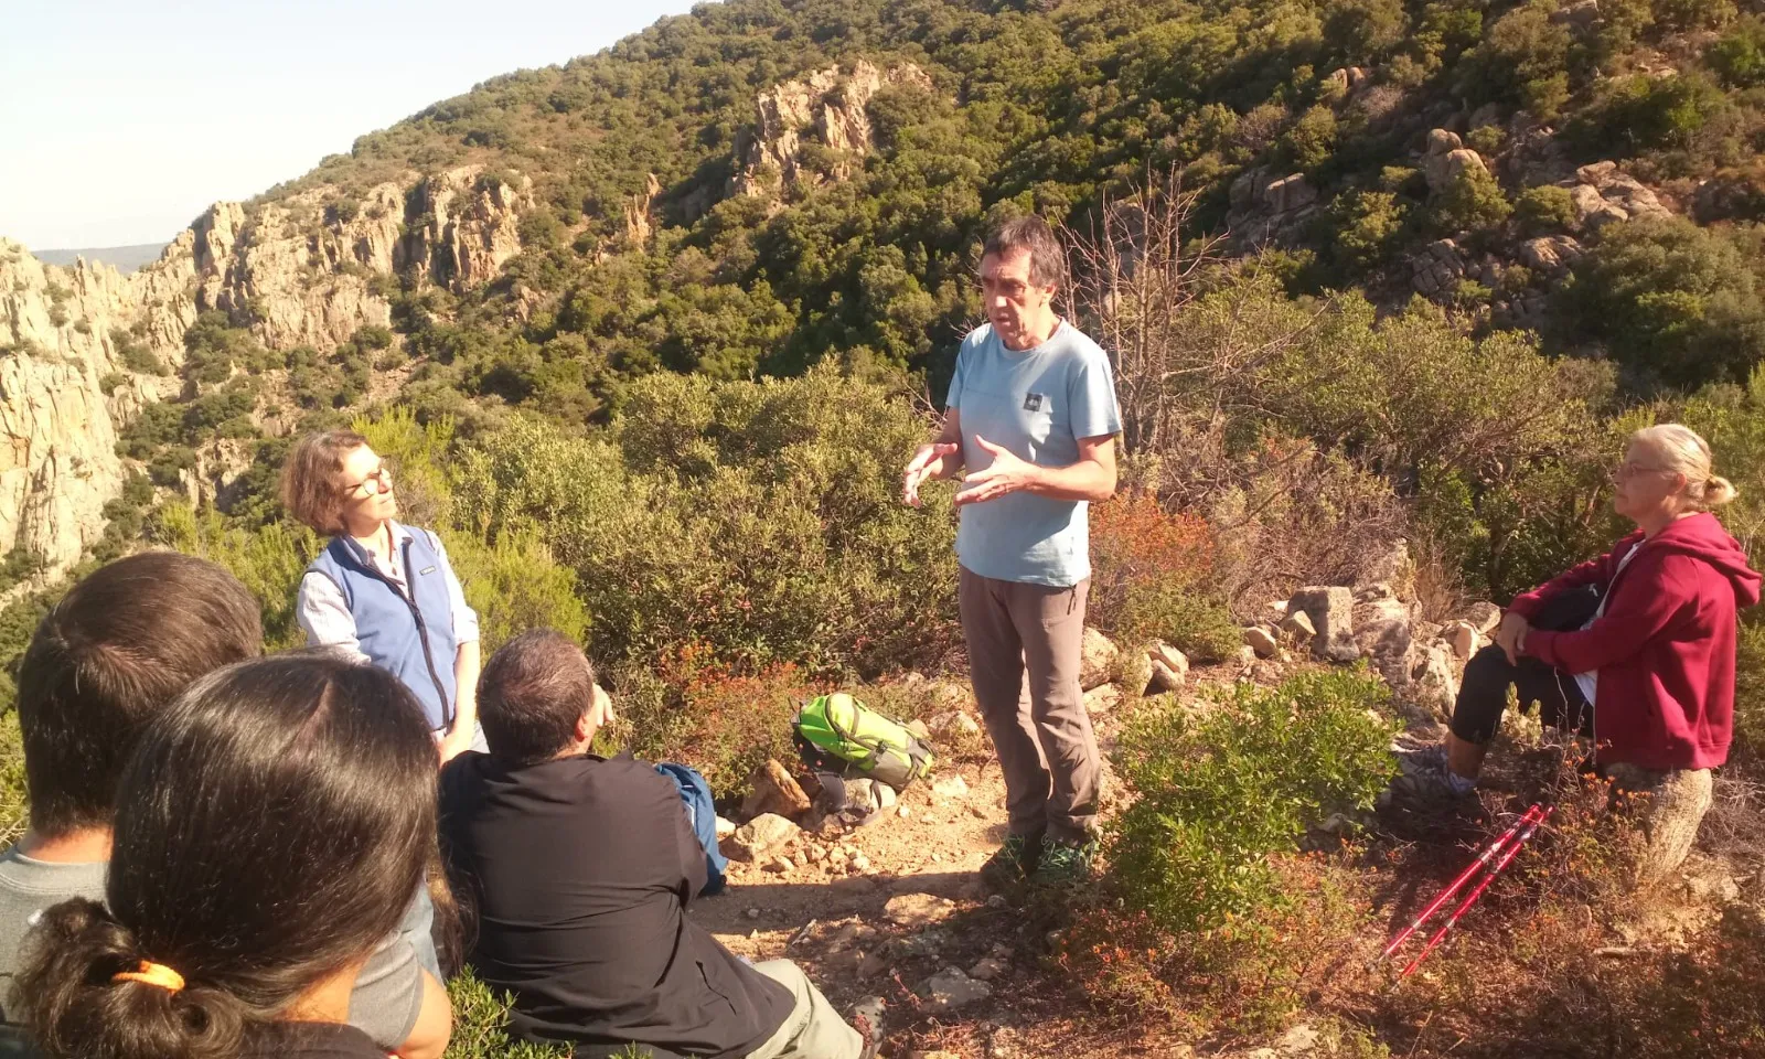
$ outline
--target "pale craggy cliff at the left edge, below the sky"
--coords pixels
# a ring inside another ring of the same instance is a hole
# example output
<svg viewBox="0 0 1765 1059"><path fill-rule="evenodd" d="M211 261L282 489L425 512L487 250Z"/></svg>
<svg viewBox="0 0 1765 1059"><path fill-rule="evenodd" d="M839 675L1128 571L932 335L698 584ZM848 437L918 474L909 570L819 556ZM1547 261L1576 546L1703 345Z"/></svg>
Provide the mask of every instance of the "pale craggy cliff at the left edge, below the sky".
<svg viewBox="0 0 1765 1059"><path fill-rule="evenodd" d="M30 551L53 574L102 537L127 477L116 431L176 394L198 314L249 323L272 349L330 351L390 323L399 282L466 291L494 279L521 252L531 203L528 178L480 166L411 173L358 199L319 187L215 203L129 275L44 265L0 238L0 554Z"/></svg>

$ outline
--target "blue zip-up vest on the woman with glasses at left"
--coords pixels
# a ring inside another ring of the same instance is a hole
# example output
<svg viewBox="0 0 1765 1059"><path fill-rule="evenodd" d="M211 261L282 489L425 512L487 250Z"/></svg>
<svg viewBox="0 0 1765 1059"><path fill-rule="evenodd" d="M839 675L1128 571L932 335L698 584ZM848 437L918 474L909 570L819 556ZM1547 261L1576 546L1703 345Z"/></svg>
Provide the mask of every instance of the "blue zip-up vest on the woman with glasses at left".
<svg viewBox="0 0 1765 1059"><path fill-rule="evenodd" d="M392 538L406 530L392 524ZM431 729L454 724L454 605L447 595L445 561L427 530L409 530L399 545L409 595L374 568L367 551L348 537L332 537L307 567L342 590L355 637L374 665L392 672L424 704Z"/></svg>

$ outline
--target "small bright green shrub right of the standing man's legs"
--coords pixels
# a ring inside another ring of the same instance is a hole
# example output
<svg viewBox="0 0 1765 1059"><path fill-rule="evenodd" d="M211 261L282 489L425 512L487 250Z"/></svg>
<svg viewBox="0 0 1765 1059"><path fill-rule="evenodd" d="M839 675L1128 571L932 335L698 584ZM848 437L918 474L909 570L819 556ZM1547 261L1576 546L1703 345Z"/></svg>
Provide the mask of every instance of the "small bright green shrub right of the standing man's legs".
<svg viewBox="0 0 1765 1059"><path fill-rule="evenodd" d="M1389 784L1393 724L1375 711L1387 697L1364 671L1311 672L1130 717L1114 761L1135 800L1107 824L1123 897L1167 930L1280 902L1269 854Z"/></svg>

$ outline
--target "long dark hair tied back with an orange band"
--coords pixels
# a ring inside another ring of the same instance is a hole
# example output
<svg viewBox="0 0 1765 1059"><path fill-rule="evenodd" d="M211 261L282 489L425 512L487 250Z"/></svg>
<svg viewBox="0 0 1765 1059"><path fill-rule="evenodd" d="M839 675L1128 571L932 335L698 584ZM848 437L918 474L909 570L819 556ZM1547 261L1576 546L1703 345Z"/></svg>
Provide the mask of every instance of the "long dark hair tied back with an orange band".
<svg viewBox="0 0 1765 1059"><path fill-rule="evenodd" d="M58 1059L385 1055L277 1020L399 925L434 782L422 710L379 669L295 653L199 680L124 771L108 907L58 904L32 939L14 997L34 1040Z"/></svg>

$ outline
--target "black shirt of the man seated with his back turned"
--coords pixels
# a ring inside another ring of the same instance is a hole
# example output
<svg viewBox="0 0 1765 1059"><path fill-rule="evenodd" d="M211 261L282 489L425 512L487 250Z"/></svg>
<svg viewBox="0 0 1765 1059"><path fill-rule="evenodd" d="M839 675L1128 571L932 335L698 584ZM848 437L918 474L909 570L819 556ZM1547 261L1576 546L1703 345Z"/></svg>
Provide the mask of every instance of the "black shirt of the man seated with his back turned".
<svg viewBox="0 0 1765 1059"><path fill-rule="evenodd" d="M441 773L441 844L477 909L469 962L514 994L521 1036L736 1057L791 1013L789 990L687 918L704 847L648 764L461 754Z"/></svg>

